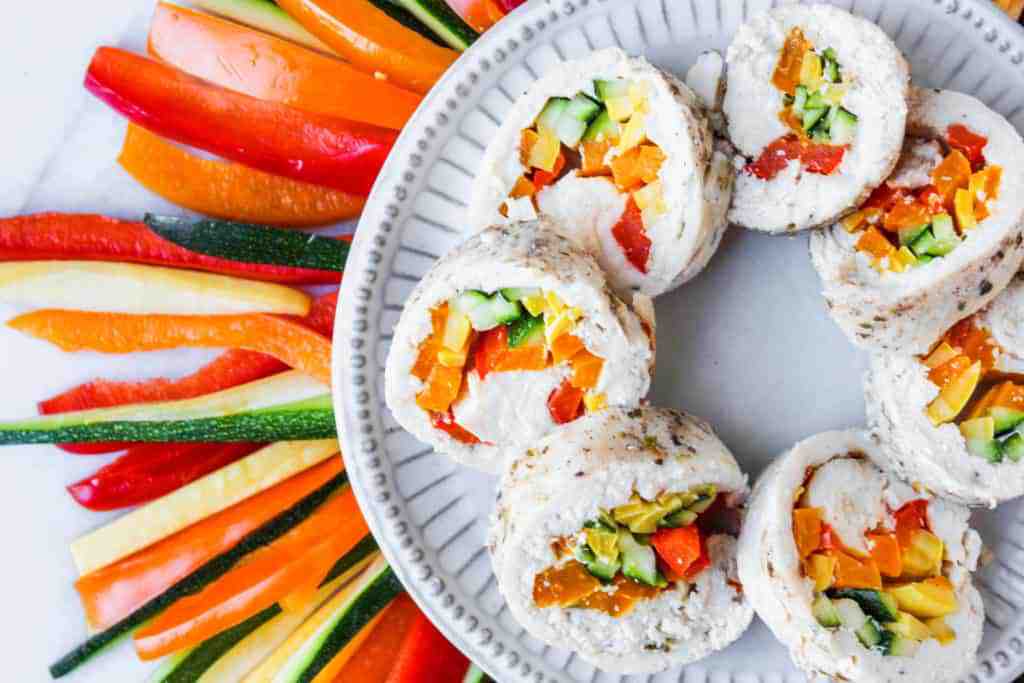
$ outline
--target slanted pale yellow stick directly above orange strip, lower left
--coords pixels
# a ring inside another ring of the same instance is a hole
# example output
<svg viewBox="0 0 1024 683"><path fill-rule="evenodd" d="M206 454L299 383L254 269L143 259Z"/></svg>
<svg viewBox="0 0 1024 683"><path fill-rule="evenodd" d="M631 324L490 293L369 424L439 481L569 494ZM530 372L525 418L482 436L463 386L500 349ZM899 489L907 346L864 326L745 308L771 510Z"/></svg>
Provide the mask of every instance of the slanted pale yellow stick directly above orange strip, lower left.
<svg viewBox="0 0 1024 683"><path fill-rule="evenodd" d="M128 557L338 453L336 439L281 441L118 517L71 544L82 574Z"/></svg>

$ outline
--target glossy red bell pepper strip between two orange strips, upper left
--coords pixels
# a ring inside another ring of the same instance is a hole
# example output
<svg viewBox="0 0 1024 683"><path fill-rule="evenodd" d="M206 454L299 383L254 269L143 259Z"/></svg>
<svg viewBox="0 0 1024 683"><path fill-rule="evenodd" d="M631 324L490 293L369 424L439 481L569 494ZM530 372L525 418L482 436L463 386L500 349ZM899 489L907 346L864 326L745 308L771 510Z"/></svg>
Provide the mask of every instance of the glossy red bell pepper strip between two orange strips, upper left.
<svg viewBox="0 0 1024 683"><path fill-rule="evenodd" d="M113 47L85 87L158 135L268 173L369 195L396 131L232 92Z"/></svg>

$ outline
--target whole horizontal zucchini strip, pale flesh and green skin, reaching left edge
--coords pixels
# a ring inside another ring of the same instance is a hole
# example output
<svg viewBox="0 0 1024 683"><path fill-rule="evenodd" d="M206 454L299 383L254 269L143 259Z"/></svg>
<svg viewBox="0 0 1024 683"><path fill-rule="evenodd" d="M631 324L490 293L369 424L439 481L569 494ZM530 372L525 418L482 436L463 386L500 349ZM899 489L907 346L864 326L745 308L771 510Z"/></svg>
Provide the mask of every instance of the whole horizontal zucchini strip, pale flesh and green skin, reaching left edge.
<svg viewBox="0 0 1024 683"><path fill-rule="evenodd" d="M184 400L0 423L0 445L92 441L288 441L334 436L325 387L297 371Z"/></svg>

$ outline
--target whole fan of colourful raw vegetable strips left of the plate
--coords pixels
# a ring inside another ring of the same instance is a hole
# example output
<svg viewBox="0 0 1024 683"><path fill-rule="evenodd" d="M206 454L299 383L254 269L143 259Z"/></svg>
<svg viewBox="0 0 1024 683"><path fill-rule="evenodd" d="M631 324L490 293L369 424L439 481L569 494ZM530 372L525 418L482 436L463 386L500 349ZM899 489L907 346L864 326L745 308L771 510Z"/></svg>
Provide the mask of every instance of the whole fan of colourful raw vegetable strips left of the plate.
<svg viewBox="0 0 1024 683"><path fill-rule="evenodd" d="M485 30L515 4L455 10ZM93 463L67 485L96 520L70 548L87 635L52 677L122 646L153 681L485 680L381 557L330 396L343 223L477 37L455 10L157 2L144 52L95 50L84 87L128 121L109 155L184 212L0 218L5 325L105 369L0 426ZM113 379L185 349L207 360Z"/></svg>

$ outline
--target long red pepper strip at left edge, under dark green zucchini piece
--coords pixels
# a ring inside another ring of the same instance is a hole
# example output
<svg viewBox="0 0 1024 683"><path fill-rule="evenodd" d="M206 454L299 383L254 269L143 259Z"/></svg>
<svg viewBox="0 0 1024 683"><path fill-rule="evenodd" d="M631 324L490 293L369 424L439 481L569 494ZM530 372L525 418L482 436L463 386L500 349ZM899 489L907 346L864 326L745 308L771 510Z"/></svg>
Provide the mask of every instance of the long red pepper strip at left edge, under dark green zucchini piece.
<svg viewBox="0 0 1024 683"><path fill-rule="evenodd" d="M38 213L2 218L0 260L145 263L292 285L341 281L340 272L330 270L207 256L165 240L145 223L95 214Z"/></svg>

